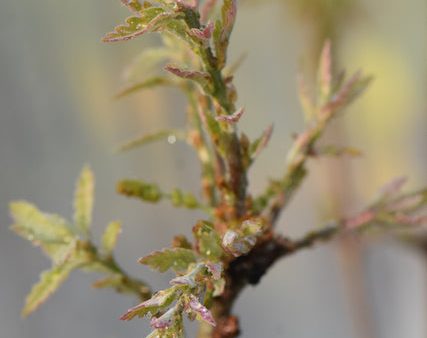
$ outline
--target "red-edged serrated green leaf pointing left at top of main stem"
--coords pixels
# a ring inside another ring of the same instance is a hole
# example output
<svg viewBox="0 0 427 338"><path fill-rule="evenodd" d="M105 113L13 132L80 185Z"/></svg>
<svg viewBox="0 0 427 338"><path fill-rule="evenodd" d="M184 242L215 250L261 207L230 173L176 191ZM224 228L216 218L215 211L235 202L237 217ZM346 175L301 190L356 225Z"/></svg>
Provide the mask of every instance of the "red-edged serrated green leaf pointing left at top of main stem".
<svg viewBox="0 0 427 338"><path fill-rule="evenodd" d="M147 32L156 31L160 24L173 19L177 13L165 12L160 7L144 8L140 15L132 16L126 19L125 25L119 25L114 28L114 31L106 34L103 38L104 42L125 41L136 38Z"/></svg>

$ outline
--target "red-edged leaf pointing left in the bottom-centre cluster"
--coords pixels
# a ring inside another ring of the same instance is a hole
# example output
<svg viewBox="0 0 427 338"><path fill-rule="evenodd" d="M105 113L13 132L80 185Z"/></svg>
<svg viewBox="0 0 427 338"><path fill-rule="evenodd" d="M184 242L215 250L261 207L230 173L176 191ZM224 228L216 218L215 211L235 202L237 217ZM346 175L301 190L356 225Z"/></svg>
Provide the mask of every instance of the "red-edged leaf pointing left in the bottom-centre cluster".
<svg viewBox="0 0 427 338"><path fill-rule="evenodd" d="M124 315L120 317L121 320L131 320L136 316L144 317L151 313L156 315L158 312L166 309L178 296L178 288L171 287L166 290L156 292L150 299L142 302L141 304L130 308Z"/></svg>

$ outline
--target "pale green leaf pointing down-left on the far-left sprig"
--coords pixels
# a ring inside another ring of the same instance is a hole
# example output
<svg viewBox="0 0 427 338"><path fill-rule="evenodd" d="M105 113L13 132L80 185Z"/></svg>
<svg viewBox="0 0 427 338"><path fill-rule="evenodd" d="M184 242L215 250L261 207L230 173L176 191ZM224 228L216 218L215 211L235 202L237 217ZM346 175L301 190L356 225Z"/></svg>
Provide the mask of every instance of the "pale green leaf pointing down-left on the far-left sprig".
<svg viewBox="0 0 427 338"><path fill-rule="evenodd" d="M25 300L23 316L34 312L47 298L52 295L67 279L70 272L77 267L75 262L66 262L54 266L51 270L42 272L40 281L33 286Z"/></svg>

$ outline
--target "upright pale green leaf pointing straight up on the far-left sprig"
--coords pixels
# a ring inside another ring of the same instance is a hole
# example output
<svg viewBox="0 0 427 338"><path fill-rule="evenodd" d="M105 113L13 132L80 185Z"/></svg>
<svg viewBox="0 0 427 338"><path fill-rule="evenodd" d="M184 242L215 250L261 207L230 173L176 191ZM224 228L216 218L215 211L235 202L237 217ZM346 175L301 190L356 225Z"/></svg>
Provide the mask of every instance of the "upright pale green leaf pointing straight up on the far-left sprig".
<svg viewBox="0 0 427 338"><path fill-rule="evenodd" d="M92 222L95 180L89 167L83 168L74 194L74 223L83 234L88 234Z"/></svg>

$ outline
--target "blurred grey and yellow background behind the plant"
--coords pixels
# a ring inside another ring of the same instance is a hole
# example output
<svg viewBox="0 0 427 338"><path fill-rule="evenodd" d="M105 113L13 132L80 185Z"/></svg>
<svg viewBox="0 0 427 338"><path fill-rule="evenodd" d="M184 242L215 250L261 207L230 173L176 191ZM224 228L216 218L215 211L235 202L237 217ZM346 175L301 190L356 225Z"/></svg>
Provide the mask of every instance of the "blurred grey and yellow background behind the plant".
<svg viewBox="0 0 427 338"><path fill-rule="evenodd" d="M242 129L254 137L274 122L270 147L251 172L251 188L281 173L291 135L303 127L296 74L313 75L326 37L337 64L375 76L363 99L327 138L361 149L360 159L315 160L311 176L284 213L289 236L322 220L356 212L378 187L401 175L408 188L427 182L427 3L425 0L252 0L241 10L231 59L247 53L236 75ZM74 181L85 163L95 171L94 232L120 219L117 259L157 288L159 275L136 260L189 233L199 215L116 195L124 177L197 191L199 168L182 144L157 143L122 155L132 135L185 123L175 90L116 101L125 65L158 43L100 38L127 15L116 0L3 1L0 4L0 337L136 338L144 321L119 315L134 300L93 291L94 276L73 273L28 319L23 300L49 262L9 229L8 203L26 199L71 217ZM427 258L391 238L346 239L279 262L248 288L235 312L244 338L421 338L427 336Z"/></svg>

